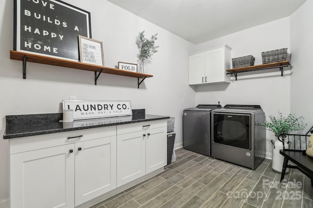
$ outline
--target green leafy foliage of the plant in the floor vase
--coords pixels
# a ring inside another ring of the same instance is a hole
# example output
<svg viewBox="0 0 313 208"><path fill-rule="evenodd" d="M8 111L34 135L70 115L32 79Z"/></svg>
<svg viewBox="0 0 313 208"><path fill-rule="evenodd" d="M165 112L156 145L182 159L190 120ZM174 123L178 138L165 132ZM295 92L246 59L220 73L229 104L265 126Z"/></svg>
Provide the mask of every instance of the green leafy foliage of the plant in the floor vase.
<svg viewBox="0 0 313 208"><path fill-rule="evenodd" d="M287 117L283 117L283 114L278 111L278 116L269 115L270 121L265 121L260 124L267 130L274 132L278 137L280 134L288 134L303 130L306 124L303 122L302 116L297 117L295 114L289 114Z"/></svg>

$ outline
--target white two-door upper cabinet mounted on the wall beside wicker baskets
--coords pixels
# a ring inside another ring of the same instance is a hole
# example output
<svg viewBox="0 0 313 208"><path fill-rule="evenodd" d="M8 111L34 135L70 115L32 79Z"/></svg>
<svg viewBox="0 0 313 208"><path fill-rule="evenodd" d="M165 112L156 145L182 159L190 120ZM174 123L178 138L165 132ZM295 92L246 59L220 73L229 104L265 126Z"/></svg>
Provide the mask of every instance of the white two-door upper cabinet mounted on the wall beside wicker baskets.
<svg viewBox="0 0 313 208"><path fill-rule="evenodd" d="M230 82L231 48L227 45L189 56L189 85Z"/></svg>

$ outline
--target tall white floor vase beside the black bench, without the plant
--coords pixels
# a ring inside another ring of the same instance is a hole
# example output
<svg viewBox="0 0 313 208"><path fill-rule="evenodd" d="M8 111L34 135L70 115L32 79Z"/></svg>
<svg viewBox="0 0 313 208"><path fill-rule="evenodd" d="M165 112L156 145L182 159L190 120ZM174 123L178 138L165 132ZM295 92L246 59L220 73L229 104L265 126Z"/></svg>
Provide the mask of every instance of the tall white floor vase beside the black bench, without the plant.
<svg viewBox="0 0 313 208"><path fill-rule="evenodd" d="M279 153L283 149L283 142L279 141L276 137L276 140L272 143L272 169L276 172L281 173L283 169L284 156ZM285 148L288 148L287 142L284 140ZM289 172L289 169L286 170L286 173Z"/></svg>

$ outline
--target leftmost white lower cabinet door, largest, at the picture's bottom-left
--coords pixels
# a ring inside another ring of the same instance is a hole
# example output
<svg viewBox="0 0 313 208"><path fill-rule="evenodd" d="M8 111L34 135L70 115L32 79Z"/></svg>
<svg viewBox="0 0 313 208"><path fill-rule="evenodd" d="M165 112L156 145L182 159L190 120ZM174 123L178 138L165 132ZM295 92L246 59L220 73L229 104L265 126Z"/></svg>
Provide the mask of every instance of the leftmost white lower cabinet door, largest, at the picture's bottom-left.
<svg viewBox="0 0 313 208"><path fill-rule="evenodd" d="M74 145L10 155L11 208L74 207Z"/></svg>

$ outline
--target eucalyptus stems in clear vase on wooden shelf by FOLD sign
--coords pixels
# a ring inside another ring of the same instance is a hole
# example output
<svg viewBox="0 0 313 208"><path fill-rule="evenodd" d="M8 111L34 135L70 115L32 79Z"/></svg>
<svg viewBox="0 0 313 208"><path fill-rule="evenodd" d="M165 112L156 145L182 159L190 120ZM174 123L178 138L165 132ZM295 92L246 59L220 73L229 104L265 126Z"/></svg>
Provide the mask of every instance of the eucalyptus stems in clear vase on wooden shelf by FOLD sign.
<svg viewBox="0 0 313 208"><path fill-rule="evenodd" d="M159 46L155 45L155 41L157 39L157 33L151 36L150 39L145 38L145 31L139 32L136 38L136 44L139 49L139 73L143 73L144 63L148 61L152 55L157 52L157 48Z"/></svg>

